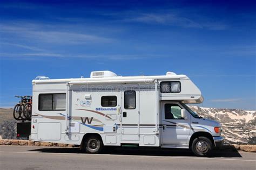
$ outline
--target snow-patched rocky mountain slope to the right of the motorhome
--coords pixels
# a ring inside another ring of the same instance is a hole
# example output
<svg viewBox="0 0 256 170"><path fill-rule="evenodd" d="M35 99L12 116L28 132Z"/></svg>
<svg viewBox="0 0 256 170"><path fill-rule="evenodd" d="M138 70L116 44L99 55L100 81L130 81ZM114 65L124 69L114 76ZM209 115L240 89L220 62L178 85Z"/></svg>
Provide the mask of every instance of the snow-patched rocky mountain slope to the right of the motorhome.
<svg viewBox="0 0 256 170"><path fill-rule="evenodd" d="M198 115L218 121L230 144L256 144L256 111L190 106Z"/></svg>

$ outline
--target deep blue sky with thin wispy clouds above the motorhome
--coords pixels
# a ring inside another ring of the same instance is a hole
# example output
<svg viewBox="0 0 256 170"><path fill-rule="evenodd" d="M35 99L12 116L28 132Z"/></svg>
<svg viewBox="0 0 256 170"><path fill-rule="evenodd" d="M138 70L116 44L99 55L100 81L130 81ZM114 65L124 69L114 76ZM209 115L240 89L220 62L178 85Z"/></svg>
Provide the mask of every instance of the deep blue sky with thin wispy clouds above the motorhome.
<svg viewBox="0 0 256 170"><path fill-rule="evenodd" d="M255 1L1 1L0 107L36 76L111 70L186 74L204 107L256 110L255 21Z"/></svg>

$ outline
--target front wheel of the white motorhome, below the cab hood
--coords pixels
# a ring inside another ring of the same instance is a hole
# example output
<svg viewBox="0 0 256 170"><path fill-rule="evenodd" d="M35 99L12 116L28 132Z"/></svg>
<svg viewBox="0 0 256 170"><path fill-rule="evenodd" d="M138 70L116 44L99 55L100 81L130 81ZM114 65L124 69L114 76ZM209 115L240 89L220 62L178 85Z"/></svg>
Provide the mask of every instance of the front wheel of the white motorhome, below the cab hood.
<svg viewBox="0 0 256 170"><path fill-rule="evenodd" d="M191 150L198 157L208 157L211 155L212 141L207 137L198 137L193 140Z"/></svg>

